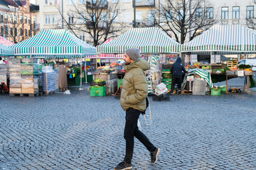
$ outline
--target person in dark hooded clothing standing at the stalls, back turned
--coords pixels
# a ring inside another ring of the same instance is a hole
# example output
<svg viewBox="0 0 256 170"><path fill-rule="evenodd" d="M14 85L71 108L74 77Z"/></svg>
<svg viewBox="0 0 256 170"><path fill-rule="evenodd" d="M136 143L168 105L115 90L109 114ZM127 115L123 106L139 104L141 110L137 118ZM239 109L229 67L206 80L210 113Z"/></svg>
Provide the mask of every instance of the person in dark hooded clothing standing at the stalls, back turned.
<svg viewBox="0 0 256 170"><path fill-rule="evenodd" d="M171 66L171 91L170 94L174 92L175 84L178 84L178 93L181 93L181 84L182 84L182 71L187 73L185 67L181 64L181 57L178 57L176 62Z"/></svg>

